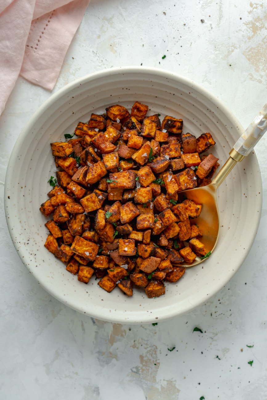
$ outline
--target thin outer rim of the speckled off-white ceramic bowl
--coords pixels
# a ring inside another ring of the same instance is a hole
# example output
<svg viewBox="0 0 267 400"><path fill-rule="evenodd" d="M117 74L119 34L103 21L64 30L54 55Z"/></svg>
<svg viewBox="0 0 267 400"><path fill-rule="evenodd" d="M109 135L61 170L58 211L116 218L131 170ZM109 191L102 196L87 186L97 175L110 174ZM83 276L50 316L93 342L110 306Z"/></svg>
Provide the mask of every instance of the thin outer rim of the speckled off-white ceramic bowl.
<svg viewBox="0 0 267 400"><path fill-rule="evenodd" d="M178 80L182 84L191 86L193 89L195 89L197 92L199 92L199 94L209 98L209 100L211 100L211 102L216 104L216 106L221 110L221 112L228 118L229 121L231 121L233 126L237 127L237 129L240 132L242 132L242 130L244 130L243 126L240 124L239 120L237 120L237 118L232 114L232 112L227 108L227 106L225 106L225 104L222 102L222 100L220 100L217 96L215 96L209 90L207 90L206 88L203 88L203 86L194 82L193 80L191 80L189 78L185 78L181 74L176 74L176 73L170 72L168 70L163 70L162 68L145 67L145 66L144 67L143 66L120 66L120 67L107 68L105 70L92 72L90 74L82 76L82 77L68 83L67 85L63 86L62 88L57 90L55 93L53 93L30 117L30 119L28 120L28 122L26 123L26 125L24 126L22 131L20 132L20 134L14 144L14 147L13 147L11 155L10 155L10 159L8 161L7 170L6 170L5 186L4 186L4 209L5 209L5 215L6 215L6 222L7 222L8 230L9 230L13 245L16 249L16 252L20 256L20 260L22 261L22 263L26 266L26 268L28 270L29 270L29 268L28 268L27 264L30 264L30 256L29 256L26 248L24 249L24 251L21 248L20 248L20 251L18 250L19 246L18 246L18 243L16 242L15 232L14 232L14 230L12 230L11 220L8 218L8 215L6 212L6 210L8 209L8 184L11 183L10 179L9 179L9 173L10 173L9 167L16 160L17 151L18 151L19 147L21 146L21 144L23 143L23 141L25 140L25 136L27 135L27 132L31 129L31 127L34 125L35 121L39 118L39 116L42 115L51 106L51 104L54 103L54 101L56 99L61 98L62 96L68 94L68 92L70 92L74 88L84 84L85 82L88 82L95 78L101 78L102 76L107 76L107 75L116 75L116 74L121 74L121 73L138 74L140 72L145 73L145 74L151 74L152 76L156 75L156 76L161 76L161 77L167 78L167 79L169 78L169 79ZM254 162L256 162L257 166L259 166L258 161L257 161L257 156L255 153L254 153ZM259 197L257 197L259 210L261 210L262 209L262 181L261 181L260 174L258 176L257 183L261 187L261 191L260 191L261 195ZM221 288L223 288L223 286L225 284L227 284L227 282L229 282L229 280L231 280L231 278L235 275L237 270L239 270L239 268L245 261L245 258L247 258L248 253L249 253L249 251L253 245L253 242L255 240L255 236L257 234L257 229L259 226L260 219L261 219L261 212L259 212L257 215L257 221L256 221L256 224L254 225L253 232L250 232L251 237L253 237L253 240L251 240L250 247L247 249L247 252L239 258L237 268L235 268L235 270L232 270L231 273L227 274L227 277L224 280L221 280L220 287L219 288L216 287L213 289L211 288L212 290L210 290L209 296L207 296L207 298L205 300L203 300L203 299L198 300L198 301L196 300L193 304L187 304L187 306L185 306L185 309L182 312L177 313L175 311L175 309L170 308L168 315L159 316L158 321L167 320L170 318L174 318L175 316L185 314L185 313L193 310L197 306L203 304L203 302L205 302L206 300L208 300L209 298L214 296L217 292L219 292L219 290L221 290ZM22 256L24 256L23 260L22 260ZM30 272L34 276L34 278L37 280L38 284L40 284L40 286L42 286L54 298L56 298L63 304L66 304L70 308L84 313L84 310L81 310L78 307L70 304L70 302L66 301L66 299L64 299L64 301L63 301L62 296L60 296L55 290L52 290L52 288L49 286L49 284L39 282L38 276L36 276L36 274L34 273L34 270L30 271ZM86 312L86 314L89 315L87 312ZM94 312L90 312L90 316L92 316L93 318L99 318L99 319L101 318L99 315L94 315ZM144 321L143 319L144 318L137 318L137 313L135 313L135 316L132 319L129 317L128 320L125 320L123 318L123 316L119 317L118 315L116 315L115 318L112 318L112 317L108 318L107 314L106 314L106 316L103 317L103 320L105 320L105 321L116 322L116 323L121 323L121 324L146 324L146 323L151 323L151 321L152 322L154 321L154 319L152 320L151 318L149 318L149 316L147 316L147 321Z"/></svg>

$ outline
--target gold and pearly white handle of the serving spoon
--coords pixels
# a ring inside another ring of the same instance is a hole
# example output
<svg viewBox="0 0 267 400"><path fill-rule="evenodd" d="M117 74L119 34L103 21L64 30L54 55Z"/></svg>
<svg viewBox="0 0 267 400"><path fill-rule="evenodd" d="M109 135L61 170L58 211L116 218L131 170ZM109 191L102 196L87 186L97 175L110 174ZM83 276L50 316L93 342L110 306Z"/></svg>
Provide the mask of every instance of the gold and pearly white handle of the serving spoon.
<svg viewBox="0 0 267 400"><path fill-rule="evenodd" d="M220 186L229 172L234 168L237 162L241 162L247 156L262 136L267 132L267 104L261 109L248 128L243 132L236 144L230 151L230 157L222 166L221 170L215 176L211 184Z"/></svg>

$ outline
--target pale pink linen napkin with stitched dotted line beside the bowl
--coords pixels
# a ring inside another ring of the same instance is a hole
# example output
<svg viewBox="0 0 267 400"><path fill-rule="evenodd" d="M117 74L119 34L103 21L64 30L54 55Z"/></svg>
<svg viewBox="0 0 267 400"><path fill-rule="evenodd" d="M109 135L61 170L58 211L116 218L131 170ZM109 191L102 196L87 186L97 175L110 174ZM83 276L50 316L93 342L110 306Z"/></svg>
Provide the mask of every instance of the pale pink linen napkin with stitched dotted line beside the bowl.
<svg viewBox="0 0 267 400"><path fill-rule="evenodd" d="M52 90L90 0L1 0L0 114L18 75Z"/></svg>

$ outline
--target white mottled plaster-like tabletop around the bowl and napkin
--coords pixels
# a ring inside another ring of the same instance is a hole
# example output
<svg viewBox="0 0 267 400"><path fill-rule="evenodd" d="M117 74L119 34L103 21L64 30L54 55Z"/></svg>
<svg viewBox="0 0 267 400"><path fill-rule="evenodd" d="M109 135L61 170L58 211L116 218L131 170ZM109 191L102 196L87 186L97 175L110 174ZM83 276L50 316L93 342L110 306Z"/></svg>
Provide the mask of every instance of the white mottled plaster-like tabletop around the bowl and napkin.
<svg viewBox="0 0 267 400"><path fill-rule="evenodd" d="M267 99L266 6L144 4L92 1L55 90L110 66L160 66L211 90L246 127ZM16 138L49 96L21 78L10 96L0 120L1 203ZM18 258L2 211L1 398L266 400L266 148L264 137L256 147L263 212L243 266L209 302L157 326L94 321L52 298ZM203 334L192 333L195 326Z"/></svg>

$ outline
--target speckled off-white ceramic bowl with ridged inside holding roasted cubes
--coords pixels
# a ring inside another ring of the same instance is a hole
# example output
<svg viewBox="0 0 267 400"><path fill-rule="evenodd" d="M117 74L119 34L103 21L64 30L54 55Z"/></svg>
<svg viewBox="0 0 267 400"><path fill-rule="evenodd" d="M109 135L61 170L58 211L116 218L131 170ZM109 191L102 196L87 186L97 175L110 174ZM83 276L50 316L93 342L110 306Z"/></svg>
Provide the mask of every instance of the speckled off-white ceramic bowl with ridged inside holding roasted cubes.
<svg viewBox="0 0 267 400"><path fill-rule="evenodd" d="M120 323L149 323L183 314L208 300L235 274L255 238L261 214L261 176L255 154L235 167L218 190L221 228L212 256L187 268L177 283L166 282L166 294L149 299L137 289L125 296L111 293L92 280L78 282L54 258L44 242L48 231L39 207L47 199L50 175L55 176L50 142L64 141L79 121L102 113L112 104L128 109L136 101L149 114L184 120L184 132L211 132L212 152L223 164L242 126L225 106L201 86L154 68L122 67L96 72L68 84L51 96L21 132L6 174L6 220L14 246L25 266L52 296L89 316Z"/></svg>

